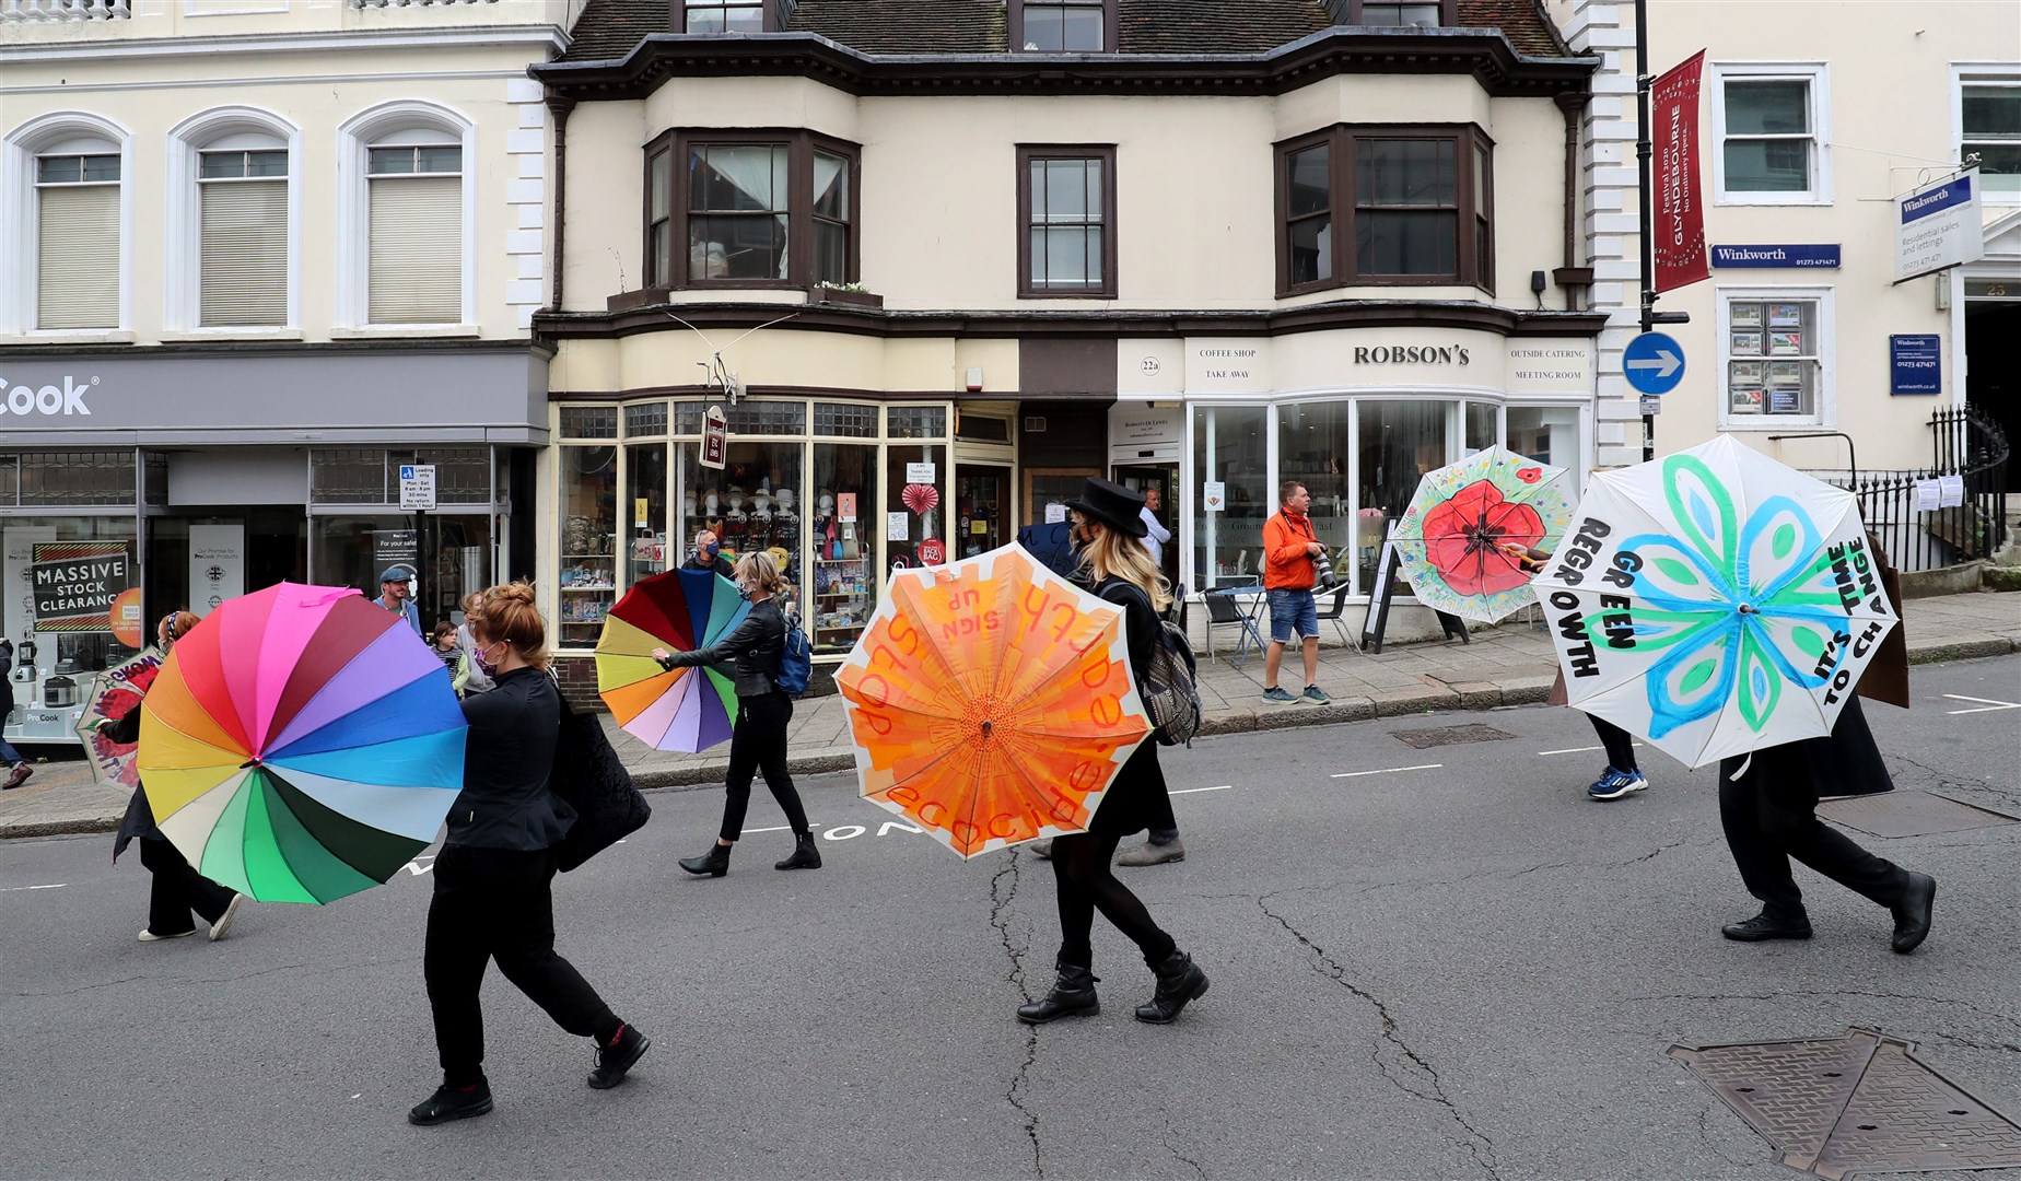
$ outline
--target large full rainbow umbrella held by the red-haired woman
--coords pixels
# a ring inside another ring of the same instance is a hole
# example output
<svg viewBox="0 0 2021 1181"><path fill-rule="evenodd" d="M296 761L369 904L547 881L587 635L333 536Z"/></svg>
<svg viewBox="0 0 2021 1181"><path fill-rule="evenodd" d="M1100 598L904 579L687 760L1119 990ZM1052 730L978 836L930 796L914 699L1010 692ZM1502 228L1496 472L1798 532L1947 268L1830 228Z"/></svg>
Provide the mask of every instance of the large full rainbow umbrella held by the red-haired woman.
<svg viewBox="0 0 2021 1181"><path fill-rule="evenodd" d="M333 902L428 847L463 791L463 710L404 619L281 582L176 641L141 704L156 823L259 902Z"/></svg>

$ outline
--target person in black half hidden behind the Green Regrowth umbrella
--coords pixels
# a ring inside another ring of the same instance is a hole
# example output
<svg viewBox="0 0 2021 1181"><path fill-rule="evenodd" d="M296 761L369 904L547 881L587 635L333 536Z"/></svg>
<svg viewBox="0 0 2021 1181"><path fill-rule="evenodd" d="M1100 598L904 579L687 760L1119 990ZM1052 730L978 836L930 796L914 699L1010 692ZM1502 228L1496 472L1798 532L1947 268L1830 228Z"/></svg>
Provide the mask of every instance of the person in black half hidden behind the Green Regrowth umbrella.
<svg viewBox="0 0 2021 1181"><path fill-rule="evenodd" d="M1894 912L1894 950L1908 955L1930 934L1936 880L1875 857L1817 819L1819 795L1894 791L1859 698L1847 698L1829 738L1787 742L1720 762L1720 827L1748 894L1762 912L1720 934L1744 942L1811 938L1791 857Z"/></svg>

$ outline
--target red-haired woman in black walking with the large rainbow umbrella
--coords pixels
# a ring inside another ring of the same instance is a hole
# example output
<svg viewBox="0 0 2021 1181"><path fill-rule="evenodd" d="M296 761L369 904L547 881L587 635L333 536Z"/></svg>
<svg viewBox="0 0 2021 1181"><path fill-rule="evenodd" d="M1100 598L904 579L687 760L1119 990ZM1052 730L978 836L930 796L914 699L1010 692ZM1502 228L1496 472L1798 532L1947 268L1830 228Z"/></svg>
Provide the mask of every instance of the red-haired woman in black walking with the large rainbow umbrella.
<svg viewBox="0 0 2021 1181"><path fill-rule="evenodd" d="M576 811L548 791L562 694L548 675L548 627L534 609L534 588L493 586L467 619L471 655L495 688L463 700L463 793L449 809L449 835L435 857L422 950L443 1086L406 1112L414 1124L491 1110L477 993L493 959L556 1025L596 1039L590 1086L622 1082L653 1043L554 952L554 845Z"/></svg>

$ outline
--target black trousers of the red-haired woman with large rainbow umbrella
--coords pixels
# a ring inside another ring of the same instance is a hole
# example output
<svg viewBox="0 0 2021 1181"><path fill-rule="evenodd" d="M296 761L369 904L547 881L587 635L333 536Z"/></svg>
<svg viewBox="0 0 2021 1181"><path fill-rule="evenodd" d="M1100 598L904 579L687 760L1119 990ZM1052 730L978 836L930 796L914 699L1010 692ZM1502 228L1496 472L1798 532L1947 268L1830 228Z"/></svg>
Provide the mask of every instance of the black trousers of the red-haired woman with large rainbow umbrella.
<svg viewBox="0 0 2021 1181"><path fill-rule="evenodd" d="M620 1023L610 1007L574 965L554 955L552 882L552 849L445 845L435 859L420 963L445 1084L469 1086L485 1076L485 1013L477 991L493 959L562 1029L598 1041L616 1037Z"/></svg>

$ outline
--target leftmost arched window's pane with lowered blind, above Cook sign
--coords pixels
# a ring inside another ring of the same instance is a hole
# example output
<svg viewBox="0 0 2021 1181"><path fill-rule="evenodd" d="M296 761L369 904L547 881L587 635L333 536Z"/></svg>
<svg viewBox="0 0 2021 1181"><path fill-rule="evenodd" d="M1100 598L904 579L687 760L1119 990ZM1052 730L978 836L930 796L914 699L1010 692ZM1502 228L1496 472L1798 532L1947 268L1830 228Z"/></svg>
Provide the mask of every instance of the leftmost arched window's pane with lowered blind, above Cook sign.
<svg viewBox="0 0 2021 1181"><path fill-rule="evenodd" d="M119 156L40 156L34 182L34 326L119 328Z"/></svg>

